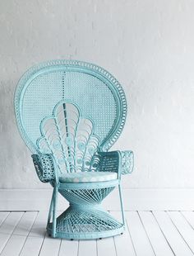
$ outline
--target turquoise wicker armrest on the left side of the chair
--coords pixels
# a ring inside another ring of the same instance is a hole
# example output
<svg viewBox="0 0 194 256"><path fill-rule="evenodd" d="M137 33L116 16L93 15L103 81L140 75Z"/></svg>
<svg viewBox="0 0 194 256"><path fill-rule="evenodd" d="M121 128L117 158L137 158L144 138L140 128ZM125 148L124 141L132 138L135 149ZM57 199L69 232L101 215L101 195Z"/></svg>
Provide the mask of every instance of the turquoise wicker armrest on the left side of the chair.
<svg viewBox="0 0 194 256"><path fill-rule="evenodd" d="M35 170L42 183L58 181L56 164L52 154L32 154Z"/></svg>

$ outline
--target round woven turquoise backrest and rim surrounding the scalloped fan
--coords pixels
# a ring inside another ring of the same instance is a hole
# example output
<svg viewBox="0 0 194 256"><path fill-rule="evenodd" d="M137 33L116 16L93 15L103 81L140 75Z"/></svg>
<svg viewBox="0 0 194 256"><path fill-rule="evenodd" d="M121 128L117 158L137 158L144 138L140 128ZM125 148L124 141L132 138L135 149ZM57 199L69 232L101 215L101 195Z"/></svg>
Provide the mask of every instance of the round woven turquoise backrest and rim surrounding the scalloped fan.
<svg viewBox="0 0 194 256"><path fill-rule="evenodd" d="M41 121L60 101L76 104L94 122L99 150L107 151L118 139L127 115L126 97L118 81L94 64L53 60L29 69L16 88L17 125L32 153L38 151Z"/></svg>

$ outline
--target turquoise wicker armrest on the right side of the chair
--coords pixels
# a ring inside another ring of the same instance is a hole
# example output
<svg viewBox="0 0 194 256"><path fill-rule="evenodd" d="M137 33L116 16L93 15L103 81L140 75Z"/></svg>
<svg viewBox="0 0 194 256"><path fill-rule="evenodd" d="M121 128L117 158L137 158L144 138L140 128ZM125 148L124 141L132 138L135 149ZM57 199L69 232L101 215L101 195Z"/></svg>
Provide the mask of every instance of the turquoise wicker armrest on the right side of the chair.
<svg viewBox="0 0 194 256"><path fill-rule="evenodd" d="M110 151L98 152L99 155L99 172L114 172L120 174L132 173L133 170L133 152Z"/></svg>

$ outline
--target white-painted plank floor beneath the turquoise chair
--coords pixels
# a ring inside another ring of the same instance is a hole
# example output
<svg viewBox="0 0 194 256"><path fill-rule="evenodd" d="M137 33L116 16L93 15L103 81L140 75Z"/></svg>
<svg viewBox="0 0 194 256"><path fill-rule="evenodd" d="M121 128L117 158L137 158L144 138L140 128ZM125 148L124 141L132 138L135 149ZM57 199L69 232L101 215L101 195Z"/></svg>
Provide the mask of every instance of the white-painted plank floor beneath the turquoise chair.
<svg viewBox="0 0 194 256"><path fill-rule="evenodd" d="M127 211L124 235L89 241L49 238L45 235L47 214L0 211L0 255L194 255L194 211ZM120 218L118 211L112 215Z"/></svg>

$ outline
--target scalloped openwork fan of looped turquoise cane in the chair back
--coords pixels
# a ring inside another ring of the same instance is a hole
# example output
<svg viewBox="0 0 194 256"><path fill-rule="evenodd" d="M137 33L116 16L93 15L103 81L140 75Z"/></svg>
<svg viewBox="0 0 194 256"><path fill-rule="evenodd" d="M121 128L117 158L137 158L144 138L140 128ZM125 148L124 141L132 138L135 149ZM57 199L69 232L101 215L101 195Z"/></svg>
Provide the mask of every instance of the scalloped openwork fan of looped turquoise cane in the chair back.
<svg viewBox="0 0 194 256"><path fill-rule="evenodd" d="M81 116L75 104L62 101L41 122L36 145L40 153L53 154L60 173L91 171L100 141L94 130L93 121Z"/></svg>

